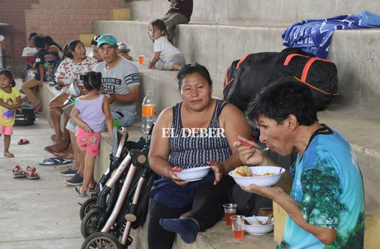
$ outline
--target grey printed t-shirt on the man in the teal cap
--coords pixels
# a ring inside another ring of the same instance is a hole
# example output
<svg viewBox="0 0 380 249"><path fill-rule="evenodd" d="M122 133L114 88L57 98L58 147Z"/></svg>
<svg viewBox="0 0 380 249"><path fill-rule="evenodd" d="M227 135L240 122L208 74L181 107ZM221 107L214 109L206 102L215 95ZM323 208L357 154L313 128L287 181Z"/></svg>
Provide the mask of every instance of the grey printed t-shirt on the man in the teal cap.
<svg viewBox="0 0 380 249"><path fill-rule="evenodd" d="M127 94L129 87L140 84L136 66L124 58L116 67L111 69L106 69L106 62L98 63L94 71L102 73L102 94L107 94L108 92ZM136 116L136 103L115 101L111 104L111 111Z"/></svg>

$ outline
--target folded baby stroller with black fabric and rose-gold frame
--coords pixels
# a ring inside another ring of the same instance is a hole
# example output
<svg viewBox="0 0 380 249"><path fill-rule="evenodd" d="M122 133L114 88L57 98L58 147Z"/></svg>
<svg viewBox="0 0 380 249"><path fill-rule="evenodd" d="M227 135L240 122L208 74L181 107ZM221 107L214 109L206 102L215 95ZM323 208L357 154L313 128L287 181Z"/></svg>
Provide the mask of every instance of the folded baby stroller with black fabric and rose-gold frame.
<svg viewBox="0 0 380 249"><path fill-rule="evenodd" d="M82 205L83 213L88 211L81 226L86 239L82 249L126 249L132 243L130 229L144 223L149 200L147 194L155 178L147 160L150 132L147 140L141 137L137 142L124 143L123 137L127 135L123 133L110 168L98 181L93 196L96 204L92 201L91 205Z"/></svg>

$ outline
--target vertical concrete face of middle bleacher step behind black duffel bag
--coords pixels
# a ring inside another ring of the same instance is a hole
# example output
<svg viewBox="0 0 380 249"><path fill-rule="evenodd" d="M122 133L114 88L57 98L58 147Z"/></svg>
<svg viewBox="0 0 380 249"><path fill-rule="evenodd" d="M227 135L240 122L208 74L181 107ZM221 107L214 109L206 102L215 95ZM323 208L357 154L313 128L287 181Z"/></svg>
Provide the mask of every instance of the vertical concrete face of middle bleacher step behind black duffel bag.
<svg viewBox="0 0 380 249"><path fill-rule="evenodd" d="M118 40L127 42L131 54L150 58L153 44L147 26L148 22L141 21L96 21L93 31L113 33ZM203 64L210 74L223 78L232 61L248 53L281 51L284 29L265 25L178 25L176 46L187 63ZM328 58L338 68L340 96L335 102L380 110L379 59L375 53L380 43L374 42L379 36L380 29L335 31Z"/></svg>

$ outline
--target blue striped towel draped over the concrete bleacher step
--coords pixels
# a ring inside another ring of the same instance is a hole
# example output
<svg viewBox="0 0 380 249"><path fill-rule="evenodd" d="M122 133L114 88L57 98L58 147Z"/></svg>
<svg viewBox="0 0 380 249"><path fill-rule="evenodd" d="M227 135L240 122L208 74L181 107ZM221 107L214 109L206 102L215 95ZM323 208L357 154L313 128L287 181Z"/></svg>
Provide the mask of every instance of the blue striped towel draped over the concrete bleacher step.
<svg viewBox="0 0 380 249"><path fill-rule="evenodd" d="M379 28L380 15L362 10L358 15L338 15L327 19L296 22L282 34L283 45L326 59L334 30Z"/></svg>

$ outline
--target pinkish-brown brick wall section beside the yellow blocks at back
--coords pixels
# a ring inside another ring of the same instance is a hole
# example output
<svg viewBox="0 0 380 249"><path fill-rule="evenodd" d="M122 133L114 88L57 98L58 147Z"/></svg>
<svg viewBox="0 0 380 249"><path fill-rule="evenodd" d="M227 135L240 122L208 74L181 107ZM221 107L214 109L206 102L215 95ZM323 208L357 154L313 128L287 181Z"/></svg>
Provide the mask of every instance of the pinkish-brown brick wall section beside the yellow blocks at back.
<svg viewBox="0 0 380 249"><path fill-rule="evenodd" d="M26 33L50 35L63 47L92 33L93 20L109 20L110 9L123 7L124 0L39 0L25 10Z"/></svg>

